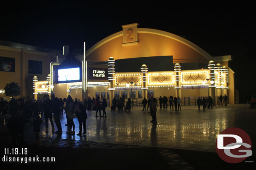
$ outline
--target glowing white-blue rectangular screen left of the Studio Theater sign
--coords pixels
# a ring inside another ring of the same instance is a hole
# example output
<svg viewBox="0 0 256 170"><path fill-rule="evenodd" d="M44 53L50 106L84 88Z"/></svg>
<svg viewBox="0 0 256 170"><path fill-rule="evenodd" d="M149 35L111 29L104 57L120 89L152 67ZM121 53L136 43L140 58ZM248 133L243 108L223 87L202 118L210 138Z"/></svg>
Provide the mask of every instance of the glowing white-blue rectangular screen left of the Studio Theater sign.
<svg viewBox="0 0 256 170"><path fill-rule="evenodd" d="M80 80L80 68L59 69L58 81Z"/></svg>

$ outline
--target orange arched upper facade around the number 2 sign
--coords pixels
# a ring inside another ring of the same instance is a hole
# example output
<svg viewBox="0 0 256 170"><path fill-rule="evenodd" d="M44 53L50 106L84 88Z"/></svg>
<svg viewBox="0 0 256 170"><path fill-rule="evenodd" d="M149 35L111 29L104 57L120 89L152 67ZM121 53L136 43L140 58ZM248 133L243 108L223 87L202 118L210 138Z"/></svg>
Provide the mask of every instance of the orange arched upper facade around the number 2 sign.
<svg viewBox="0 0 256 170"><path fill-rule="evenodd" d="M137 28L137 31L138 44L122 46L123 31L119 31L89 48L86 51L86 59L107 61L110 57L125 59L173 56L173 63L208 63L212 60L212 56L199 46L175 34L149 28Z"/></svg>

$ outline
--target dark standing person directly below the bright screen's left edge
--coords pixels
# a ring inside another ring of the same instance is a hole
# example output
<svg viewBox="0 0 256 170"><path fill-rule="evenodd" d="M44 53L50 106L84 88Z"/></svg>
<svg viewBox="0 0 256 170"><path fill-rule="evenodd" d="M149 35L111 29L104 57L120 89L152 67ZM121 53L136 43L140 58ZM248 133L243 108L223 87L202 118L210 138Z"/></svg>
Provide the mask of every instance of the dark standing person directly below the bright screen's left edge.
<svg viewBox="0 0 256 170"><path fill-rule="evenodd" d="M62 133L61 123L60 123L60 100L55 97L55 94L51 94L51 101L52 101L52 112L55 124L57 126L57 131L55 133Z"/></svg>

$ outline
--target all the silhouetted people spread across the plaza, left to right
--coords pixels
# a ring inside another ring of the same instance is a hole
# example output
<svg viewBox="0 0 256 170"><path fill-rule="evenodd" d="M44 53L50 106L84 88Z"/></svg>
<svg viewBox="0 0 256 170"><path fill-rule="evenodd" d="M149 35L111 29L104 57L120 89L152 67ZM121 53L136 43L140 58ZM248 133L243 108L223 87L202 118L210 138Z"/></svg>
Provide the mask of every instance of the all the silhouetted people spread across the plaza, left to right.
<svg viewBox="0 0 256 170"><path fill-rule="evenodd" d="M224 100L225 106L227 106L227 96L219 96L219 105L222 105L222 101ZM170 110L174 111L181 111L181 99L180 97L173 97L170 96L169 99L166 96L160 96L159 99L160 109L167 109L168 102L170 106ZM157 99L153 97L149 97L147 100L144 98L142 100L143 109L142 111L150 111L152 116L152 123L157 122L156 111L157 111ZM146 108L147 105L147 108ZM200 110L200 107L203 106L203 110L207 108L213 107L213 99L211 96L209 98L200 97L197 99L197 105ZM251 107L255 108L256 100L253 98L251 100ZM52 127L52 133L61 134L62 133L62 124L60 123L60 115L63 114L65 111L67 124L68 126L67 134L74 135L75 134L75 124L73 119L75 115L79 122L79 133L77 135L86 134L86 119L87 119L87 112L91 112L92 110L96 111L95 117L107 117L106 115L106 107L107 101L106 99L102 99L100 101L99 96L96 97L88 97L88 99L84 100L84 103L75 99L73 100L71 96L68 96L67 99L55 97L55 94L51 94L51 98L49 95L45 95L44 99L40 100L27 100L25 101L22 98L19 99L12 99L9 102L0 99L0 113L1 114L10 114L11 118L8 121L8 129L13 137L13 143L22 143L24 142L24 126L25 124L33 125L34 135L36 136L37 142L39 142L39 132L40 132L40 125L42 124L42 115L45 119L45 132L48 133L48 121L50 120L50 125ZM112 99L112 106L111 111L131 111L132 102L131 99L128 98L125 104L125 97L113 98ZM103 112L103 115L101 114ZM57 131L55 132L54 129L54 122L57 127ZM82 130L84 132L82 133Z"/></svg>

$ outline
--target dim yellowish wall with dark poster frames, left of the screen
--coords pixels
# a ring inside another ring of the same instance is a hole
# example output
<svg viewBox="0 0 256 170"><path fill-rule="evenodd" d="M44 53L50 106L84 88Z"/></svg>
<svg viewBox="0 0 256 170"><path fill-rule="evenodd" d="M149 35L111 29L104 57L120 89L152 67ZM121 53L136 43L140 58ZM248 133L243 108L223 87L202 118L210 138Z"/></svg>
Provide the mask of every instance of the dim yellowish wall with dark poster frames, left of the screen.
<svg viewBox="0 0 256 170"><path fill-rule="evenodd" d="M15 72L0 71L0 89L14 81L21 87L21 95L16 96L16 98L24 96L25 99L33 98L33 77L37 76L38 81L46 80L47 75L50 74L50 62L55 58L52 53L7 46L0 46L0 56L15 58ZM29 74L29 60L42 61L42 74Z"/></svg>

